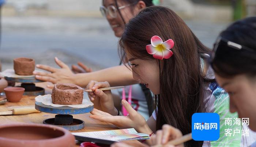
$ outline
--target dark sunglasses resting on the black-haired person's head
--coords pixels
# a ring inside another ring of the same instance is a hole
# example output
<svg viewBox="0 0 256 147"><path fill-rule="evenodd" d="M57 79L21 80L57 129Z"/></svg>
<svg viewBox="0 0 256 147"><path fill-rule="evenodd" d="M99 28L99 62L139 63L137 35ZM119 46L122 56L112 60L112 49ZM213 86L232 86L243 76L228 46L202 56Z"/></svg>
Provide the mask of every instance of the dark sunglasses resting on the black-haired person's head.
<svg viewBox="0 0 256 147"><path fill-rule="evenodd" d="M210 63L212 63L212 61L215 58L216 52L219 49L219 46L224 46L225 48L229 48L229 49L236 49L236 50L247 50L249 52L255 53L254 49L248 48L246 46L234 43L232 41L228 41L225 38L222 37L218 37L216 43L214 44L214 49L212 50L212 54L210 57Z"/></svg>

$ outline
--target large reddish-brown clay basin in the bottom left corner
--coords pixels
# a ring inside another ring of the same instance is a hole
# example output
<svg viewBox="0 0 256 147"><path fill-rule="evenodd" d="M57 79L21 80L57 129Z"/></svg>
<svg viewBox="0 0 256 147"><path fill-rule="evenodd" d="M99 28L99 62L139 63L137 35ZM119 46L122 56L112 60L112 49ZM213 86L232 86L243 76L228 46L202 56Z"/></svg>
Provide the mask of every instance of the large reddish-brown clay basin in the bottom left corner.
<svg viewBox="0 0 256 147"><path fill-rule="evenodd" d="M3 147L74 147L75 137L66 129L44 124L0 125Z"/></svg>

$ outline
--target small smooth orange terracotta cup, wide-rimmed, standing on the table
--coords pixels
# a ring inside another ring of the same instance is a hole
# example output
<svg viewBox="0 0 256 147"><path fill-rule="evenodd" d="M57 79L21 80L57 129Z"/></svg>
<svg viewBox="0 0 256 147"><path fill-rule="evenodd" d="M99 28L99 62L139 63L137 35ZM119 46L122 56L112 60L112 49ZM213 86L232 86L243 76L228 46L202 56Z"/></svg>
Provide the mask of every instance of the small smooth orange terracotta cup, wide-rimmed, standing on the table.
<svg viewBox="0 0 256 147"><path fill-rule="evenodd" d="M9 102L19 102L22 98L22 95L25 91L25 88L22 87L7 87L4 88L5 96Z"/></svg>

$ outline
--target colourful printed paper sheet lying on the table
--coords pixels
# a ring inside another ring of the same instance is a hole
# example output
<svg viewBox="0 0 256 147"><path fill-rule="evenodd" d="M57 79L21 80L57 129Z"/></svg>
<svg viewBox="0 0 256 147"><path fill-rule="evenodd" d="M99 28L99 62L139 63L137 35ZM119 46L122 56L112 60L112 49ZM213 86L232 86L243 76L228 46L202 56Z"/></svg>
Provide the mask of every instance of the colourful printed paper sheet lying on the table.
<svg viewBox="0 0 256 147"><path fill-rule="evenodd" d="M112 140L112 141L150 139L149 135L144 133L138 133L134 128L118 129L118 130L110 130L110 131L77 132L72 134L77 136L84 136L84 137Z"/></svg>

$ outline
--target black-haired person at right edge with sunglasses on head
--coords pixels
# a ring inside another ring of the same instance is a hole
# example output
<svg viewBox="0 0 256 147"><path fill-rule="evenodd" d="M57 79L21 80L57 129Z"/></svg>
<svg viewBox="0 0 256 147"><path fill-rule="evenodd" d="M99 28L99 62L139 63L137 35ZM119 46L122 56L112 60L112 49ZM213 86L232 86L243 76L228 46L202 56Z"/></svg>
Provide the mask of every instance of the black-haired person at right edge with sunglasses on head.
<svg viewBox="0 0 256 147"><path fill-rule="evenodd" d="M256 17L239 20L222 31L210 65L219 86L229 94L230 112L249 118L249 128L256 131Z"/></svg>

